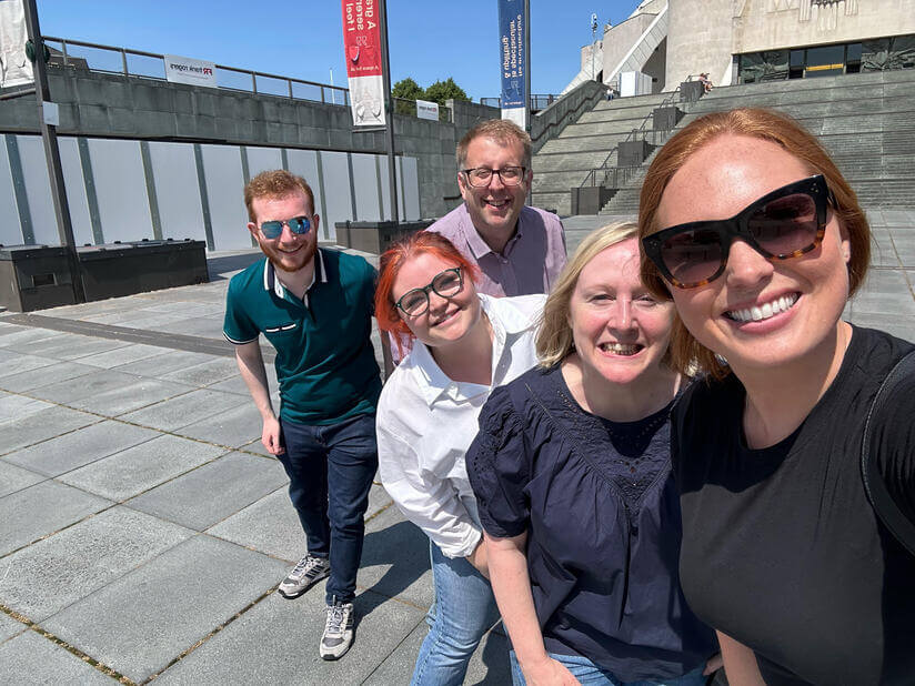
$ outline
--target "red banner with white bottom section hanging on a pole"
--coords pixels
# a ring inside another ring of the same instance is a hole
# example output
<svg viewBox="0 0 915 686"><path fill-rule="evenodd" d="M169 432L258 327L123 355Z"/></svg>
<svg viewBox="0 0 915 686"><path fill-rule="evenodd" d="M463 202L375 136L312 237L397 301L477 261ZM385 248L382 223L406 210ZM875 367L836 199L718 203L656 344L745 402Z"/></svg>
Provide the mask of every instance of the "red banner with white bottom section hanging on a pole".
<svg viewBox="0 0 915 686"><path fill-rule="evenodd" d="M381 31L375 0L342 0L343 47L353 123L384 124L384 84L381 69Z"/></svg>

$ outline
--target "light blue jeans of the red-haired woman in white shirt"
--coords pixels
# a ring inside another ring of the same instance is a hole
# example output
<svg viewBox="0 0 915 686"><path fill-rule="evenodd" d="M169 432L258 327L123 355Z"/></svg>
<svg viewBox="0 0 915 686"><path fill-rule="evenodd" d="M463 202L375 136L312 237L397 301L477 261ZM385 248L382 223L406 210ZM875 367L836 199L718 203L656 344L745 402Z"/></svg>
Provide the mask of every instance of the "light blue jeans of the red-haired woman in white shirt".
<svg viewBox="0 0 915 686"><path fill-rule="evenodd" d="M445 557L430 542L435 602L412 686L460 686L480 639L499 621L490 583L465 558Z"/></svg>

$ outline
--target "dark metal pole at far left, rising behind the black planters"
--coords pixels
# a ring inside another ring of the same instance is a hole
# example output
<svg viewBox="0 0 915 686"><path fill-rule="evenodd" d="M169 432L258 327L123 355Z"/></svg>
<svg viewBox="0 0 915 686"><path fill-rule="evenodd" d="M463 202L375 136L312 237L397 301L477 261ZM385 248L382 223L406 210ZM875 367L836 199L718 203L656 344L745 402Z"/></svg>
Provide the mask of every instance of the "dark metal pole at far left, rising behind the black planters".
<svg viewBox="0 0 915 686"><path fill-rule="evenodd" d="M54 218L58 224L58 235L61 244L67 249L70 260L70 274L73 280L73 297L78 303L86 302L86 292L82 287L82 273L77 241L73 238L73 224L70 220L70 204L63 182L63 168L60 163L60 148L57 141L57 127L49 124L44 115L44 103L51 103L51 90L48 87L48 72L44 67L44 40L41 38L41 28L38 23L38 9L34 0L22 0L26 10L26 29L29 40L34 47L34 93L38 100L38 123L41 127L41 141L44 144L44 158L48 163L48 180L51 183L51 199L54 203Z"/></svg>

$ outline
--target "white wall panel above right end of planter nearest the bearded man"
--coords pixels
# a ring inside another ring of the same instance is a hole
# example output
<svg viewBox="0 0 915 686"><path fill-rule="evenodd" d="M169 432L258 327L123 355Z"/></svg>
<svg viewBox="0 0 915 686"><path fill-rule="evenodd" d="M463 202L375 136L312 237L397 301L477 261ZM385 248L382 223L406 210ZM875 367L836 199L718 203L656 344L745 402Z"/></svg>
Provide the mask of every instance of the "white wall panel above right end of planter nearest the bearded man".
<svg viewBox="0 0 915 686"><path fill-rule="evenodd" d="M192 143L149 144L163 239L207 240Z"/></svg>

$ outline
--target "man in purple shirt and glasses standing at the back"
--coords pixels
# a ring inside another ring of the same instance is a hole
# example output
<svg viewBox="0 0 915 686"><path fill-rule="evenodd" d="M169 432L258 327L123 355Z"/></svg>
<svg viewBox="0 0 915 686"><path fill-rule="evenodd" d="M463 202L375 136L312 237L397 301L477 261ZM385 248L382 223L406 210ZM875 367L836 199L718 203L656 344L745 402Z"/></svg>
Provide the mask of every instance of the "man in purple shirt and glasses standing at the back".
<svg viewBox="0 0 915 686"><path fill-rule="evenodd" d="M514 122L481 122L458 143L464 202L426 231L441 233L480 266L481 293L546 293L565 266L560 218L524 204L533 175L531 137Z"/></svg>

